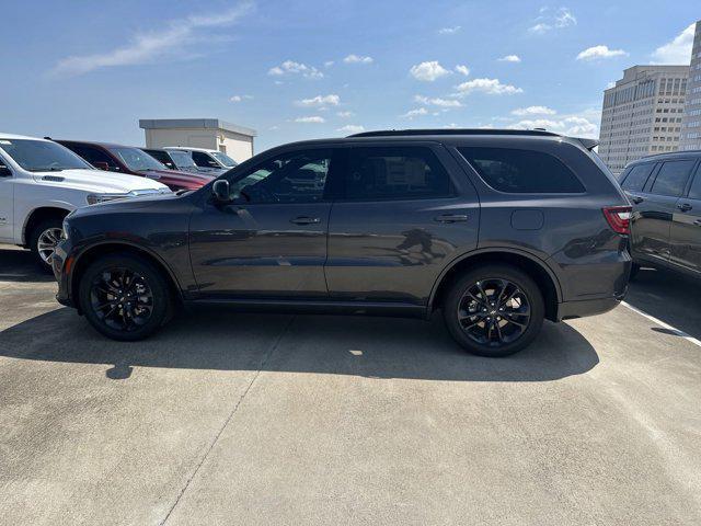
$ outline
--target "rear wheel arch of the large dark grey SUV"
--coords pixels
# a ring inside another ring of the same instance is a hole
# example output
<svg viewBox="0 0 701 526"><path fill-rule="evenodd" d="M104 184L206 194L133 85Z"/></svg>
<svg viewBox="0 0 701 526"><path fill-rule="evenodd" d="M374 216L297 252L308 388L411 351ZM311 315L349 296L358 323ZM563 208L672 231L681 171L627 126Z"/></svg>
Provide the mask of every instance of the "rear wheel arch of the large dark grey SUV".
<svg viewBox="0 0 701 526"><path fill-rule="evenodd" d="M538 285L545 302L545 318L556 321L558 304L562 301L562 289L558 276L548 264L528 252L509 248L482 249L453 260L438 276L428 299L428 313L443 302L446 291L460 274L478 265L510 264L526 272Z"/></svg>

